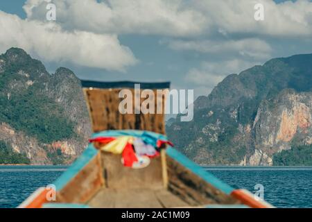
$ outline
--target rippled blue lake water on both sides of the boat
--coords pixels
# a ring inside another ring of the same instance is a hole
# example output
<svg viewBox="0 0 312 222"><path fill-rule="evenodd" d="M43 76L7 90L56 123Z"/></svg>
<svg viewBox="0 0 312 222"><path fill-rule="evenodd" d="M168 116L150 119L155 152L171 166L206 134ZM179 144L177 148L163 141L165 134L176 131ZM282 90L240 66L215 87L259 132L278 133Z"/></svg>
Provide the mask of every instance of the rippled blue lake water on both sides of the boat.
<svg viewBox="0 0 312 222"><path fill-rule="evenodd" d="M234 188L252 192L276 207L312 207L312 167L205 167ZM38 187L55 181L66 167L0 166L0 207L17 207Z"/></svg>

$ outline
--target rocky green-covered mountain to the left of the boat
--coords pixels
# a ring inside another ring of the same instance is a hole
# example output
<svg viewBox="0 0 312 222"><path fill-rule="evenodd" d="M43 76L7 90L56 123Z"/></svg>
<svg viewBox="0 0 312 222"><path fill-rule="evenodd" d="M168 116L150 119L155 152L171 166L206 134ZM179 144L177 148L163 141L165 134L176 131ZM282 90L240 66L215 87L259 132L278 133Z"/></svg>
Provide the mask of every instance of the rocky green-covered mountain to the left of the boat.
<svg viewBox="0 0 312 222"><path fill-rule="evenodd" d="M59 68L49 74L22 49L0 56L0 141L32 164L68 164L91 130L80 80Z"/></svg>

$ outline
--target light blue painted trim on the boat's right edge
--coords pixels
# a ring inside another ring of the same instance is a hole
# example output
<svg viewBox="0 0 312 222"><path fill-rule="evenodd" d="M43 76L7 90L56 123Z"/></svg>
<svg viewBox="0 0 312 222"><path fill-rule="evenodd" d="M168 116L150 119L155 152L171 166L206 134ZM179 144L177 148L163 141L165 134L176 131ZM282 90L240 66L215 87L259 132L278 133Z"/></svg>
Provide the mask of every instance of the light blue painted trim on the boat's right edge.
<svg viewBox="0 0 312 222"><path fill-rule="evenodd" d="M195 173L197 176L199 176L212 186L225 192L225 194L231 194L232 191L234 190L233 187L230 187L226 183L216 178L211 173L208 173L207 171L205 171L205 169L202 169L202 167L198 166L198 164L195 164L193 161L189 160L189 158L187 158L185 155L175 150L174 148L168 147L166 153L168 156L172 157L177 162L180 162L180 164L182 164L184 167L187 167L187 169L191 170L193 173Z"/></svg>

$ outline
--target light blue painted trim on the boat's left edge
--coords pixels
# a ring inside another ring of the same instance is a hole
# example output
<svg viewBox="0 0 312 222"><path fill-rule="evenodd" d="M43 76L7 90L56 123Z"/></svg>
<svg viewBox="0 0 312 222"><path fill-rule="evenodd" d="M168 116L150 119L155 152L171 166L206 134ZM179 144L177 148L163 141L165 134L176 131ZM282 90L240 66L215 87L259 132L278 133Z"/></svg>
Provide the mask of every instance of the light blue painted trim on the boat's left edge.
<svg viewBox="0 0 312 222"><path fill-rule="evenodd" d="M53 184L56 187L56 191L60 191L67 183L75 177L89 162L96 156L98 150L94 148L93 144L89 144L85 151L78 159L73 162L71 167L65 171L60 178L58 178Z"/></svg>

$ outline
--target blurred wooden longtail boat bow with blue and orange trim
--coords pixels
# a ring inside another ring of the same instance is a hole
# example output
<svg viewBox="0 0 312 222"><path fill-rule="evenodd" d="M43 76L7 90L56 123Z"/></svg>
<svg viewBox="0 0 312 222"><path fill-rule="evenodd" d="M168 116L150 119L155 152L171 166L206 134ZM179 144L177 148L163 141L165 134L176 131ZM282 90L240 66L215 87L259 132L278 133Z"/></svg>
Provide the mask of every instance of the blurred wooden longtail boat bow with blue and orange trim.
<svg viewBox="0 0 312 222"><path fill-rule="evenodd" d="M157 105L164 108L168 90L162 90L167 92L163 94L157 90L169 89L170 83L82 81L94 131L89 145L53 183L55 199L48 198L51 189L40 187L19 207L273 207L254 198L250 191L218 180L170 143L158 147L159 155L148 159L146 166L125 167L124 152L121 155L118 148L110 152L112 146L107 148L107 144L120 137L149 139L157 144L166 141L164 112L143 114L134 106L132 113L121 114L120 92L128 89L136 94L135 84L140 84L140 90L155 92L155 109ZM139 99L137 105L142 103L144 99Z"/></svg>

